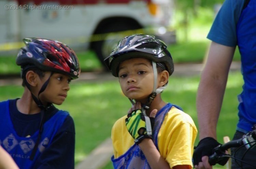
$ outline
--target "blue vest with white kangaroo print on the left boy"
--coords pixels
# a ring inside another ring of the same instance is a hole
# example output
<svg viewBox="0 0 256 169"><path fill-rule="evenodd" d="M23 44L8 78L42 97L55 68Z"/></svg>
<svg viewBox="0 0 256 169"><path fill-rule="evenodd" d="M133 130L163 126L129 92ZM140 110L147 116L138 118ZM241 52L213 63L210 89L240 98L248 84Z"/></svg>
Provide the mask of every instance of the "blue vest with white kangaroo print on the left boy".
<svg viewBox="0 0 256 169"><path fill-rule="evenodd" d="M30 137L20 137L13 128L9 113L9 100L0 102L0 140L2 147L13 157L19 168L31 168L41 152L51 144L57 130L62 126L68 112L58 111L43 125L43 132L34 161L29 159L39 131Z"/></svg>

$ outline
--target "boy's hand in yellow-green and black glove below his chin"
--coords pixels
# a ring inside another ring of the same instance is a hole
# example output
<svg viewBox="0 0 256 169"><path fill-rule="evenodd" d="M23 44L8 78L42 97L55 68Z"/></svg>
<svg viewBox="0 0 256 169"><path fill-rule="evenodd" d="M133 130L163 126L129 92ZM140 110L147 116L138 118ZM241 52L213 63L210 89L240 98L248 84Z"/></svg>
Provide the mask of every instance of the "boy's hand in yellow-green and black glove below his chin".
<svg viewBox="0 0 256 169"><path fill-rule="evenodd" d="M151 127L153 129L154 119L157 110L154 109L150 114ZM129 110L126 121L126 127L131 134L131 136L135 139L134 142L139 144L144 138L152 138L150 134L147 133L146 130L146 122L145 116L141 111L140 102L136 102L132 108Z"/></svg>

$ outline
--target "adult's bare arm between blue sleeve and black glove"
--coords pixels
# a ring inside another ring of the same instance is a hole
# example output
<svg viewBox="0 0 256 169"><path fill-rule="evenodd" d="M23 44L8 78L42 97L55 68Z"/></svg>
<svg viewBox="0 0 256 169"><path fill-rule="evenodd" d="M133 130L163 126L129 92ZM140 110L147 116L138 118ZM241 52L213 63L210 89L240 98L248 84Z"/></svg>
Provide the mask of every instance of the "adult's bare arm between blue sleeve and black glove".
<svg viewBox="0 0 256 169"><path fill-rule="evenodd" d="M197 92L199 138L216 136L216 126L236 47L211 43Z"/></svg>

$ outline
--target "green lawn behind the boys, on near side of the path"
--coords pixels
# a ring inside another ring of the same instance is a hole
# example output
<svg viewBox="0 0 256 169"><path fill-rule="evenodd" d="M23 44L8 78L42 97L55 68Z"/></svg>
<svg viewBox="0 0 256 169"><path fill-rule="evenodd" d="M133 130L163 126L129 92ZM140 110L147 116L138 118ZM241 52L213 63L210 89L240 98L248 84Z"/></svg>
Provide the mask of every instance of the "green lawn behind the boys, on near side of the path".
<svg viewBox="0 0 256 169"><path fill-rule="evenodd" d="M242 77L240 72L230 73L227 90L224 96L222 113L218 122L218 141L223 143L223 136L232 138L236 128L237 95L241 92ZM188 113L198 127L196 115L196 93L199 76L170 77L167 89L162 98L172 104L179 105ZM21 86L0 87L0 100L20 97ZM71 82L66 101L59 109L67 110L75 122L76 146L75 162L79 163L94 148L111 135L114 122L126 114L130 108L129 100L122 94L117 79L105 82ZM198 138L196 139L196 145ZM109 163L104 169L112 168ZM214 167L215 168L215 167Z"/></svg>

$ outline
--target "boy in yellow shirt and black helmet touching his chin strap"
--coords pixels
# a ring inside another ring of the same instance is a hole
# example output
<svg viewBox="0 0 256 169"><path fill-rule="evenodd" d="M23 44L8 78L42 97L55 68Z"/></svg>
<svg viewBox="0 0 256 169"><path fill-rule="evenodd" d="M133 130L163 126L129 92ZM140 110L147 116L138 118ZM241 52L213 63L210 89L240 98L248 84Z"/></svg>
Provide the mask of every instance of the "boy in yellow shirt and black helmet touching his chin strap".
<svg viewBox="0 0 256 169"><path fill-rule="evenodd" d="M191 169L196 126L161 99L173 73L166 44L150 35L127 36L105 63L133 104L112 128L114 168Z"/></svg>

